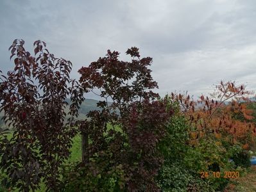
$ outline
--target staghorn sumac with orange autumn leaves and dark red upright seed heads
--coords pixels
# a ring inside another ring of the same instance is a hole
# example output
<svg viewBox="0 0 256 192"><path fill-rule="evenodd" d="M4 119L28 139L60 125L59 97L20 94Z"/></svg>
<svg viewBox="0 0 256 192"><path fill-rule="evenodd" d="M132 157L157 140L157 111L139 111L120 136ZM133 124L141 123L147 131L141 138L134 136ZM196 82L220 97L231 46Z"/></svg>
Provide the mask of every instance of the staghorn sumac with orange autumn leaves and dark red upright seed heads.
<svg viewBox="0 0 256 192"><path fill-rule="evenodd" d="M189 95L175 93L171 94L171 98L180 103L187 116L193 145L198 139L210 135L232 144L240 142L245 145L252 144L255 137L253 111L248 108L250 95L253 92L246 91L243 84L237 86L235 82L221 81L216 85L216 91L210 94L212 98L201 95L199 100L193 100Z"/></svg>

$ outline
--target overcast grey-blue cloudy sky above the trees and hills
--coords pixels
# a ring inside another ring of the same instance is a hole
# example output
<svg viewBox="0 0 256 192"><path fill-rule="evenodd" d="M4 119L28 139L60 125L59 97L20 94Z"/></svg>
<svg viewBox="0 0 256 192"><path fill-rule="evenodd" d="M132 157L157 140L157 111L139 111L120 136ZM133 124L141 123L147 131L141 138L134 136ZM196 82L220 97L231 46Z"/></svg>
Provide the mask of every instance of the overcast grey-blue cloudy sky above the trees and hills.
<svg viewBox="0 0 256 192"><path fill-rule="evenodd" d="M44 40L55 56L73 63L72 77L107 49L139 47L153 58L160 95L212 91L221 79L256 90L255 0L0 1L0 68L13 67L15 38ZM92 95L90 95L92 97Z"/></svg>

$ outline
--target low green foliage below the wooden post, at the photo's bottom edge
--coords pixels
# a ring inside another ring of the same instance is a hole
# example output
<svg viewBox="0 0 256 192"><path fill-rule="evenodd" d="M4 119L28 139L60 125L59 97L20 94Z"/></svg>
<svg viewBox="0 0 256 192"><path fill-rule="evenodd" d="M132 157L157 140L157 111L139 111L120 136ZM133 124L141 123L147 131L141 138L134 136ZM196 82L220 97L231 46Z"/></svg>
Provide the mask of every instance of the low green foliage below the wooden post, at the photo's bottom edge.
<svg viewBox="0 0 256 192"><path fill-rule="evenodd" d="M86 165L70 163L62 166L62 191L123 191L123 165L111 166L112 163L100 160L96 157Z"/></svg>

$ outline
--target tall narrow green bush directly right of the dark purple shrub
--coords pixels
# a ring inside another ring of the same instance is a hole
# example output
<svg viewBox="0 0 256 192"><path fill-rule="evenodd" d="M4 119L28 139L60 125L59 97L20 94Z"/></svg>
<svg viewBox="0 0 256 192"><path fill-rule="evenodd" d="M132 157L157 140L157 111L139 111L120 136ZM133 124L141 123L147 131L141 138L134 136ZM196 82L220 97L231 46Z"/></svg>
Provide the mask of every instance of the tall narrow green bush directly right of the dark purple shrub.
<svg viewBox="0 0 256 192"><path fill-rule="evenodd" d="M158 186L162 191L187 191L187 185L193 178L185 168L183 159L189 148L187 141L188 127L185 118L180 115L178 104L167 100L167 108L173 108L175 115L166 123L166 134L158 150L164 156L164 164L157 176Z"/></svg>

